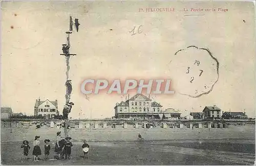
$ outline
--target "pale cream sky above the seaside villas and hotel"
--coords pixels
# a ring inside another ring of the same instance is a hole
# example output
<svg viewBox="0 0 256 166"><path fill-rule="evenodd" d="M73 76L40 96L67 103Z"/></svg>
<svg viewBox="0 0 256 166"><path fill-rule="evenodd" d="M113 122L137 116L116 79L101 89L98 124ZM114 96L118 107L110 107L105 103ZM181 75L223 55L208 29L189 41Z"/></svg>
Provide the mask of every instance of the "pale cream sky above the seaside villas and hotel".
<svg viewBox="0 0 256 166"><path fill-rule="evenodd" d="M175 8L175 12L139 12L139 8ZM191 8L217 11L191 12ZM218 12L218 8L228 11ZM75 103L70 117L78 118L80 110L86 118L111 117L116 103L125 99L125 95L121 99L121 94L102 92L89 94L87 100L80 90L86 79L155 78L172 79L176 91L152 94L163 109L201 112L205 106L217 105L223 111L245 109L248 116L255 116L251 2L2 2L1 12L1 107L32 115L35 100L40 98L58 100L62 112L66 60L59 54L71 14L80 26L71 34L70 52L77 55L70 58L71 101ZM131 35L134 27L135 32L140 27L141 33ZM194 56L175 55L190 45L210 50L219 62L218 82L199 98L178 92L194 91L215 80L216 71L207 66L217 62L205 53L195 53L210 72L192 86L184 72Z"/></svg>

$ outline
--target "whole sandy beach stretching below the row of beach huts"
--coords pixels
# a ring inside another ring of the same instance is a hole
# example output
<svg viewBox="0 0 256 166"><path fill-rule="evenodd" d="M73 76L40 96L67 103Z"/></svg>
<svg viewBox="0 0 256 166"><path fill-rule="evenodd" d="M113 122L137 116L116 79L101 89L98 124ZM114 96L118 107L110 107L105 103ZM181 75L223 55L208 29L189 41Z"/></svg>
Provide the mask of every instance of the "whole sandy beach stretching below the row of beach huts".
<svg viewBox="0 0 256 166"><path fill-rule="evenodd" d="M255 126L229 125L228 128L169 128L157 126L152 129L127 129L118 125L103 129L71 129L72 159L20 162L22 141L27 139L32 146L35 135L40 140L50 139L50 159L54 158L54 138L60 129L43 126L4 128L2 125L2 164L253 164L255 160ZM14 125L15 126L15 125ZM145 139L137 142L140 133ZM82 140L89 141L90 158L83 159ZM44 143L41 143L41 149ZM43 152L43 149L42 149Z"/></svg>

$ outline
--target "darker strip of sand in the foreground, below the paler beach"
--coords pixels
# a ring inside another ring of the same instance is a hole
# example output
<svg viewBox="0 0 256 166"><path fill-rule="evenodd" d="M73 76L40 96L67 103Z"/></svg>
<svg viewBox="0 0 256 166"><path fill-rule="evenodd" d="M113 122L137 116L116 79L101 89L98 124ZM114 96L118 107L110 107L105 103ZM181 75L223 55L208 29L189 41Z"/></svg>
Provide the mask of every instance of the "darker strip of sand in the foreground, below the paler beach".
<svg viewBox="0 0 256 166"><path fill-rule="evenodd" d="M20 143L2 143L2 164L163 164L163 165L245 165L254 163L254 140L241 143L218 143L217 140L161 140L161 141L103 141L89 142L89 159L83 159L81 142L74 142L72 159L33 161L32 149L29 161L21 162ZM234 140L233 140L234 141ZM240 140L241 141L241 140ZM43 144L41 145L43 148ZM42 150L42 152L44 152ZM51 144L50 159L54 159L54 145Z"/></svg>

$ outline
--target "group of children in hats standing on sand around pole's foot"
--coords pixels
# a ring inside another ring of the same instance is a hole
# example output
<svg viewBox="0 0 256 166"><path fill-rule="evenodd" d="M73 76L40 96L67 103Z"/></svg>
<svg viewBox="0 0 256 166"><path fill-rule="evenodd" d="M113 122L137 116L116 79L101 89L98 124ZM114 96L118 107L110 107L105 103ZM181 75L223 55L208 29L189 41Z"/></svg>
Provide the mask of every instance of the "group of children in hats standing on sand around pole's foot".
<svg viewBox="0 0 256 166"><path fill-rule="evenodd" d="M57 136L59 136L59 135L60 135L60 132L57 132ZM35 139L33 141L34 149L33 149L32 154L34 155L34 161L39 161L38 155L41 155L39 138L40 138L40 136L35 136ZM71 139L72 139L71 137L66 137L65 139L61 139L59 141L56 140L55 152L58 154L59 159L61 157L63 157L64 159L70 159L71 147L73 147ZM50 154L50 150L51 150L51 146L49 143L50 143L50 140L45 139L45 160L49 160L49 154ZM29 141L24 140L21 148L24 149L24 158L22 159L22 162L23 162L24 160L28 160L28 154L29 154L29 150L30 150ZM82 145L82 151L83 151L84 158L88 158L89 148L90 148L90 146L87 144L87 141L84 140L83 145Z"/></svg>

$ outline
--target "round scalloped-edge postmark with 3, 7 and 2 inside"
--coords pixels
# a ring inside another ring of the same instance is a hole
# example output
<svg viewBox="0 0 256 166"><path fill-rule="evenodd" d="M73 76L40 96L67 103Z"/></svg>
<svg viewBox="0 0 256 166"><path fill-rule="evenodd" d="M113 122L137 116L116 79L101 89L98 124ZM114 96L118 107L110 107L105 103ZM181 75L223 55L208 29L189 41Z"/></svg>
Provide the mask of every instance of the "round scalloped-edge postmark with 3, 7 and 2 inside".
<svg viewBox="0 0 256 166"><path fill-rule="evenodd" d="M208 49L194 45L172 56L169 71L175 90L191 98L210 93L219 80L218 60Z"/></svg>

